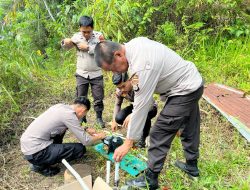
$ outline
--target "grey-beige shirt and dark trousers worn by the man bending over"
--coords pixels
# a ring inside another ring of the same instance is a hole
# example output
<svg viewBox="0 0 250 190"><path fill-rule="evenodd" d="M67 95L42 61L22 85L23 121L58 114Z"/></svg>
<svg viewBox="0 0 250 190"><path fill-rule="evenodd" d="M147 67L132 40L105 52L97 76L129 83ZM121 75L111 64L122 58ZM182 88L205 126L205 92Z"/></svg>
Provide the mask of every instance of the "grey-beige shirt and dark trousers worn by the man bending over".
<svg viewBox="0 0 250 190"><path fill-rule="evenodd" d="M199 156L200 112L203 80L196 66L163 44L139 37L125 44L130 75L136 77L134 108L127 138L140 138L153 94L165 106L150 131L148 167L160 172L177 131L187 160Z"/></svg>

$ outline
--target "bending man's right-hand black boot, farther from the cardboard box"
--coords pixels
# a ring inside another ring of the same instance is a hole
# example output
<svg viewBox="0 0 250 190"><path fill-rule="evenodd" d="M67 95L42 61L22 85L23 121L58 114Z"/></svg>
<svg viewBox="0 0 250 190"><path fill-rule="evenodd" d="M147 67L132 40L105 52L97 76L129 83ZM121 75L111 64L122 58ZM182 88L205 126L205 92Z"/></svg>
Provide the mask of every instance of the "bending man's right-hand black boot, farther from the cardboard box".
<svg viewBox="0 0 250 190"><path fill-rule="evenodd" d="M180 168L182 171L188 174L189 177L199 177L199 169L197 166L197 160L187 160L186 163L177 160L175 166Z"/></svg>

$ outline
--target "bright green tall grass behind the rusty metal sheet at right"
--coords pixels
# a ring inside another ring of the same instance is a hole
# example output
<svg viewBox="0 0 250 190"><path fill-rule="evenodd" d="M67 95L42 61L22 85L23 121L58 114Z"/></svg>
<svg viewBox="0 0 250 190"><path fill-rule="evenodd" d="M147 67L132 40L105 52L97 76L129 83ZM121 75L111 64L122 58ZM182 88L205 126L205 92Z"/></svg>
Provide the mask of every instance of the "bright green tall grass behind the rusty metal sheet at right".
<svg viewBox="0 0 250 190"><path fill-rule="evenodd" d="M192 51L190 51L192 50ZM222 37L201 41L181 52L194 61L206 83L226 84L250 93L250 40Z"/></svg>

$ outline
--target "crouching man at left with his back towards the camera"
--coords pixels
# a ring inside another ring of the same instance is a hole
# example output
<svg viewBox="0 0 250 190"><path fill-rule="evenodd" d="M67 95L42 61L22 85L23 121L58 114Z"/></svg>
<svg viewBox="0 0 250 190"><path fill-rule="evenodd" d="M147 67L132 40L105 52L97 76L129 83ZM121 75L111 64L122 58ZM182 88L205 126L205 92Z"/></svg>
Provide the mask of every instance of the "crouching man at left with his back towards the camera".
<svg viewBox="0 0 250 190"><path fill-rule="evenodd" d="M57 104L36 118L21 137L21 150L31 163L31 170L45 176L56 175L60 169L52 167L62 159L72 161L83 157L85 146L105 137L94 129L83 129L79 120L90 109L89 100L80 96L74 104ZM81 143L62 143L69 129ZM88 133L88 134L87 134Z"/></svg>

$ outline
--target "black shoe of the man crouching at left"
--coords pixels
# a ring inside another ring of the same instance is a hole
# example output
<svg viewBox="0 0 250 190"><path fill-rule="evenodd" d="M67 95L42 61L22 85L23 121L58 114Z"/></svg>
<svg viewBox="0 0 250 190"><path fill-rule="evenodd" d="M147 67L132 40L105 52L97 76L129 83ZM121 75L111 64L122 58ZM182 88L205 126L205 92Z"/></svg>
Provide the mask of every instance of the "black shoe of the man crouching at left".
<svg viewBox="0 0 250 190"><path fill-rule="evenodd" d="M58 167L44 167L44 166L38 166L38 165L34 165L31 164L30 165L30 170L33 172L37 172L43 176L54 176L56 174L58 174L60 172L60 168Z"/></svg>

